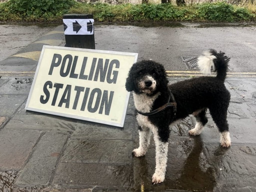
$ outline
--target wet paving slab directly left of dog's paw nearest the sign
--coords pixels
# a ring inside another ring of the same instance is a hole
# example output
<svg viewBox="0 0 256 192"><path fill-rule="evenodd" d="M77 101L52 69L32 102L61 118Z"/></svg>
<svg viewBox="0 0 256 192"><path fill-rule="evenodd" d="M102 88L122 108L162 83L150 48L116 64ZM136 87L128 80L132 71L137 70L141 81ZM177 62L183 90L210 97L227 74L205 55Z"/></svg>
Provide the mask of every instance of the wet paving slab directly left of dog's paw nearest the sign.
<svg viewBox="0 0 256 192"><path fill-rule="evenodd" d="M69 140L62 163L131 164L133 142L129 140Z"/></svg>

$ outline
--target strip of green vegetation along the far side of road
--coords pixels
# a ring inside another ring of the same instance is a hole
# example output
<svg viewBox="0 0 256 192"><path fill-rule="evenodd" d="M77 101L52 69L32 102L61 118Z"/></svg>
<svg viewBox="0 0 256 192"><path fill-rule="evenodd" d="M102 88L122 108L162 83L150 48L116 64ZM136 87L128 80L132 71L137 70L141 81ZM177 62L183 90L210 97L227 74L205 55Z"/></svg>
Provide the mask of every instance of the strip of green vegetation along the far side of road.
<svg viewBox="0 0 256 192"><path fill-rule="evenodd" d="M93 14L97 22L166 22L166 21L254 21L255 8L225 2L189 6L163 4L87 4L73 0L9 0L0 4L0 21L61 22L66 13Z"/></svg>

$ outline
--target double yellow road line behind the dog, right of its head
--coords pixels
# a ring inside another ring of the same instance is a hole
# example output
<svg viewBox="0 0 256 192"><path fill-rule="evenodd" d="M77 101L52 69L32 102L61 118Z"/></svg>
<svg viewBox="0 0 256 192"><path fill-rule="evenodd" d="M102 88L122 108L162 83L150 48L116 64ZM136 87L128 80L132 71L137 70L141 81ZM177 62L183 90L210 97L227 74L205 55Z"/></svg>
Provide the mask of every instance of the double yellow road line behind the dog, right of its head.
<svg viewBox="0 0 256 192"><path fill-rule="evenodd" d="M205 76L200 71L166 71L168 77L199 77ZM210 76L215 77L216 73ZM256 77L254 72L227 72L227 77Z"/></svg>

